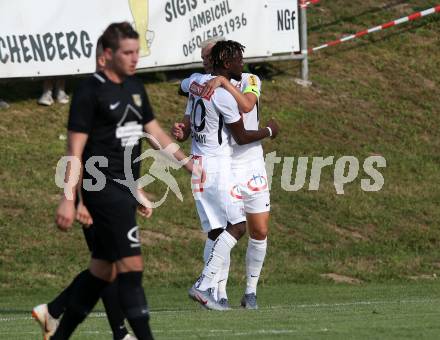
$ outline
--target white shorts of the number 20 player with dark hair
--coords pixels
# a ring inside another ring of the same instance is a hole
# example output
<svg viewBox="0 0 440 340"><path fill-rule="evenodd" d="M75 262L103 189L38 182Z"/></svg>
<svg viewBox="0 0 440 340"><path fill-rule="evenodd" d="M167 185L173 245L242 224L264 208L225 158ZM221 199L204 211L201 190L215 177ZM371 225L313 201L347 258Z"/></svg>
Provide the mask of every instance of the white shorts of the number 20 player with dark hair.
<svg viewBox="0 0 440 340"><path fill-rule="evenodd" d="M243 202L233 200L230 195L231 175L230 171L209 172L203 183L195 177L191 180L197 213L205 233L225 228L228 223L246 221Z"/></svg>

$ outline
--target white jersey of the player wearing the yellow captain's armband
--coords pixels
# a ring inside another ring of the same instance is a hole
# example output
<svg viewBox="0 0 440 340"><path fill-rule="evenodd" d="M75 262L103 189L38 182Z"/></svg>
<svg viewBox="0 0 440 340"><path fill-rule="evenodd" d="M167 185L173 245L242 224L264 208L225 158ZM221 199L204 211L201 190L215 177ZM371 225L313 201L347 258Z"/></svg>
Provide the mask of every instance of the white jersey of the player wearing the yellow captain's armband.
<svg viewBox="0 0 440 340"><path fill-rule="evenodd" d="M238 87L241 93L254 93L257 96L257 103L254 108L248 112L243 113L243 124L246 130L258 130L259 128L259 100L261 92L261 80L256 75L251 73L242 73L241 81L231 80L231 83ZM233 148L232 164L240 165L245 164L250 160L254 160L263 157L263 148L261 142L253 142L245 145L238 145L235 140L231 139L231 145Z"/></svg>

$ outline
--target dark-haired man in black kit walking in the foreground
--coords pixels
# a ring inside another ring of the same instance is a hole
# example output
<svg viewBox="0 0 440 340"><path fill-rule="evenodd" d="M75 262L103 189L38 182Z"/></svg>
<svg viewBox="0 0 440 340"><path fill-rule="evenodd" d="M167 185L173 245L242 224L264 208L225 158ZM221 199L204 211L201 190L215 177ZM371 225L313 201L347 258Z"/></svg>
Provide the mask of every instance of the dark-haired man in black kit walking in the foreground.
<svg viewBox="0 0 440 340"><path fill-rule="evenodd" d="M91 261L88 270L73 281L67 309L54 335L50 336L51 340L68 339L93 309L102 290L116 276L121 308L134 334L139 340L153 338L142 288L143 260L136 224L137 209L144 216L149 216L151 210L142 189L138 189L134 197L129 188L115 179L125 179L126 147L133 148L132 175L134 180L139 178L140 165L133 161L140 156L141 146L137 138L143 131L156 139L154 142L149 139L155 148L166 148L172 141L155 120L142 83L132 77L139 59L137 32L125 22L111 24L102 35L102 45L105 68L86 79L77 89L68 123L68 156L77 157L83 165L86 164L84 184L95 185L95 191L84 188L81 191L95 232ZM102 188L96 188L102 180L96 178L96 172L92 176L87 171L86 162L92 157L96 158L89 161L90 165L105 176ZM182 161L185 155L177 150L173 157ZM185 167L192 170L190 163ZM70 183L70 176L74 176L74 169L67 167L66 183ZM76 185L67 191L75 196ZM72 225L74 202L75 197L63 196L61 199L56 223L62 230Z"/></svg>

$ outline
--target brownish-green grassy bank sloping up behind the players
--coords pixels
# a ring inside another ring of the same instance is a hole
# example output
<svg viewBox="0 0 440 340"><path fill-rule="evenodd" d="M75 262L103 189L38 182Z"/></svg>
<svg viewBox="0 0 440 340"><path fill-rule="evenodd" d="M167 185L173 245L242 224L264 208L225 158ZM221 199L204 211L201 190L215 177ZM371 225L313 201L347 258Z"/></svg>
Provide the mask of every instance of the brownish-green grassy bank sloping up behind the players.
<svg viewBox="0 0 440 340"><path fill-rule="evenodd" d="M310 46L435 4L322 1L309 11ZM384 284L440 276L439 31L437 14L314 54L309 88L293 82L297 62L271 64L276 75L263 79L262 116L275 117L282 132L265 142L266 152L295 159L353 155L361 164L380 154L387 167L381 191L361 191L361 168L345 195L337 195L334 167L323 170L318 191L307 190L307 176L303 189L286 192L276 165L263 284L327 284L322 275L329 273ZM185 107L177 82L143 79L168 129ZM0 289L9 292L57 291L88 261L80 228L61 233L54 227L60 193L54 175L65 151L60 136L68 108L38 107L39 90L29 81L0 85L0 97L11 104L0 112ZM140 221L145 283L152 287L187 287L202 268L203 235L189 178L173 173L184 201L170 194L151 220ZM146 189L158 197L165 190L160 183ZM245 244L234 251L231 287L244 283Z"/></svg>

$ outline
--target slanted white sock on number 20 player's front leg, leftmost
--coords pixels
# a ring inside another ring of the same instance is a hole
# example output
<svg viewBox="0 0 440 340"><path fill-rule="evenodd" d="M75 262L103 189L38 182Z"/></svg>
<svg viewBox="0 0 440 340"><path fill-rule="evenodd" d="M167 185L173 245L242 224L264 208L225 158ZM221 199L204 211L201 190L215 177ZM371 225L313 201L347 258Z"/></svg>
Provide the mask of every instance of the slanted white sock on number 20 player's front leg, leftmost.
<svg viewBox="0 0 440 340"><path fill-rule="evenodd" d="M216 274L223 266L223 262L231 253L231 249L237 244L237 240L226 230L214 241L211 253L203 268L202 275L195 286L200 290L207 290L216 286L214 281Z"/></svg>

